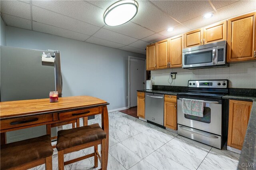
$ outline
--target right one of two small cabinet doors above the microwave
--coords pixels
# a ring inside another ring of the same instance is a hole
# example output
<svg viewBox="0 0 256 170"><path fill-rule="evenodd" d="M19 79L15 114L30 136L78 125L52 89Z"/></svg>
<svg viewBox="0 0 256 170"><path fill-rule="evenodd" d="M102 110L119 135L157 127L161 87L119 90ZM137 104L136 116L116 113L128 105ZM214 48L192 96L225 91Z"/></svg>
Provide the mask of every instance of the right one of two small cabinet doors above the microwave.
<svg viewBox="0 0 256 170"><path fill-rule="evenodd" d="M203 44L227 40L227 21L204 27Z"/></svg>

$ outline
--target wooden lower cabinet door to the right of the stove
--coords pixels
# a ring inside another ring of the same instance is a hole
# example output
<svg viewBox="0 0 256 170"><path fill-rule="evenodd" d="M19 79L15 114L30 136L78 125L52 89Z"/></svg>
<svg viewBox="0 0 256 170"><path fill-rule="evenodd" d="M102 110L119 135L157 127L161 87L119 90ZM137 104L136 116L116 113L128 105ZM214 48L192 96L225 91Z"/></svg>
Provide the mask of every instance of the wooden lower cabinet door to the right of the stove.
<svg viewBox="0 0 256 170"><path fill-rule="evenodd" d="M242 150L251 109L250 101L229 101L228 146Z"/></svg>

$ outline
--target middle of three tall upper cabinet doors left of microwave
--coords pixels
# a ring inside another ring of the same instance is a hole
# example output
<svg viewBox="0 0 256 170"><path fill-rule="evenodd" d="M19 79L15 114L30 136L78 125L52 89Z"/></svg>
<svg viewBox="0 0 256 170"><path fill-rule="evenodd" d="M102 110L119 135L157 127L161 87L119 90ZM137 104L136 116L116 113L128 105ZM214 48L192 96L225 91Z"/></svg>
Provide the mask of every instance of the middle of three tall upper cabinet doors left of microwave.
<svg viewBox="0 0 256 170"><path fill-rule="evenodd" d="M168 68L169 50L168 39L156 42L156 69Z"/></svg>

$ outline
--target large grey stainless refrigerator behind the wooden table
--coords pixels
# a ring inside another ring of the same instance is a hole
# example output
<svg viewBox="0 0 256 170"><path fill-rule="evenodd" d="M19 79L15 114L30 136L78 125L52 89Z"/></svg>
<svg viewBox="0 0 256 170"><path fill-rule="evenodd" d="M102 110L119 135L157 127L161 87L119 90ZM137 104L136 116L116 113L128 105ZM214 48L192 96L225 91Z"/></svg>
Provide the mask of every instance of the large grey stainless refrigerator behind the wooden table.
<svg viewBox="0 0 256 170"><path fill-rule="evenodd" d="M42 61L50 53L53 63ZM60 52L1 46L1 101L49 98L50 91L62 96ZM49 101L50 102L50 101ZM46 134L46 127L25 128L6 133L7 143ZM56 136L57 128L52 128Z"/></svg>

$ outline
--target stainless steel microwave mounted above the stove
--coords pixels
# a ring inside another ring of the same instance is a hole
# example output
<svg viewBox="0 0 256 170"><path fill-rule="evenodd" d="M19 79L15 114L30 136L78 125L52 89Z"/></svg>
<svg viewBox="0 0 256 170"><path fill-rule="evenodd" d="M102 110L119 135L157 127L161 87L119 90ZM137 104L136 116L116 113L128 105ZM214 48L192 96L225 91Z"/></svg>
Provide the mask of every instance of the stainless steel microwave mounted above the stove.
<svg viewBox="0 0 256 170"><path fill-rule="evenodd" d="M182 68L200 69L228 67L226 63L226 40L185 48L182 50Z"/></svg>

